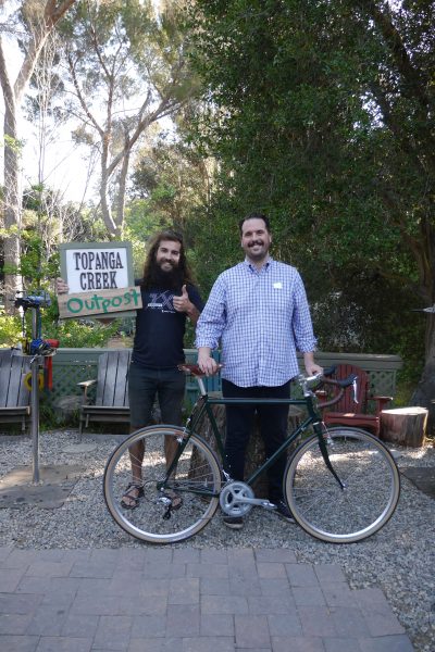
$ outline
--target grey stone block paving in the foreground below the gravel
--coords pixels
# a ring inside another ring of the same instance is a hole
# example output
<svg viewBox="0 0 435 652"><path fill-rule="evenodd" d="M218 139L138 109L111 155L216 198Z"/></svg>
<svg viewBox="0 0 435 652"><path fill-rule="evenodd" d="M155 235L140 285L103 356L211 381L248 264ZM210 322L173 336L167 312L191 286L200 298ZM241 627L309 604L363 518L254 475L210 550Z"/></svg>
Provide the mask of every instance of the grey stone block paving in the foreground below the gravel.
<svg viewBox="0 0 435 652"><path fill-rule="evenodd" d="M412 652L380 589L290 550L0 548L2 652Z"/></svg>

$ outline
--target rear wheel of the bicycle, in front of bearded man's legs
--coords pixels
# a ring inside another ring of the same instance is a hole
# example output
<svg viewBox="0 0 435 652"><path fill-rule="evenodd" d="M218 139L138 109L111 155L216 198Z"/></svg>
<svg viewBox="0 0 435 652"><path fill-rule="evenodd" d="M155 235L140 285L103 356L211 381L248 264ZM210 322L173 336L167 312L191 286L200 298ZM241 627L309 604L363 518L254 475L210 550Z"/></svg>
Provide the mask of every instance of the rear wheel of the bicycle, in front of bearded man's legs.
<svg viewBox="0 0 435 652"><path fill-rule="evenodd" d="M179 457L165 480L167 450ZM144 497L137 507L127 510L122 499L132 481L132 461L141 465ZM183 428L171 426L141 428L125 439L111 454L103 478L105 504L114 521L151 543L182 541L202 529L216 511L220 488L213 451L196 435L186 443Z"/></svg>

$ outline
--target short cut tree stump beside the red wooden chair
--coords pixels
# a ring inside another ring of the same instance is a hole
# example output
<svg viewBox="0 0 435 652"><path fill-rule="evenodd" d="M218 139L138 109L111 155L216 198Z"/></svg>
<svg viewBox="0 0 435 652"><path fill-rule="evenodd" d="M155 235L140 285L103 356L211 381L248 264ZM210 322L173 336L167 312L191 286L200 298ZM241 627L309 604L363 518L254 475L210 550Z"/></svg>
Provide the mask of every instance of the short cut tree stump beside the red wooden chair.
<svg viewBox="0 0 435 652"><path fill-rule="evenodd" d="M427 425L425 408L398 408L381 412L381 439L401 446L424 444Z"/></svg>

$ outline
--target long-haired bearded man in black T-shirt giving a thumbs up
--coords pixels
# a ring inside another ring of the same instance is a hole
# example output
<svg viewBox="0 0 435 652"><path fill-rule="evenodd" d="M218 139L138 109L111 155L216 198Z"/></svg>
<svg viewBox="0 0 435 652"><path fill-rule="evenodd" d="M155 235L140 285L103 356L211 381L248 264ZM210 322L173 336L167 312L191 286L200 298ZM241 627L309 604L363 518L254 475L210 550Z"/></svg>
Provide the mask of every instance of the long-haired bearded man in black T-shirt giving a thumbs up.
<svg viewBox="0 0 435 652"><path fill-rule="evenodd" d="M184 361L183 340L186 318L196 325L203 308L198 289L186 260L183 238L165 230L150 241L140 286L142 308L136 314L136 333L128 372L130 431L148 426L151 411L159 399L162 422L182 424L182 404L186 378L177 365ZM166 463L173 457L167 440ZM144 443L129 449L132 482L126 488L121 504L134 510L144 496L141 464ZM181 506L181 497L174 494L172 509Z"/></svg>

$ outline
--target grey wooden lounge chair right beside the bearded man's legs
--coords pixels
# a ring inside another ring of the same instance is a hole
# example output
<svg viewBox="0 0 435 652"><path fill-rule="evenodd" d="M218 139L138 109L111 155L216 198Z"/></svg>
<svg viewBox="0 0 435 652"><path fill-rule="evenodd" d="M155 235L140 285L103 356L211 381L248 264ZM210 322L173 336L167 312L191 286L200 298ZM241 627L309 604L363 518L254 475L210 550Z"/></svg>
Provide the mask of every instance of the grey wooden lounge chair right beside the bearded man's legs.
<svg viewBox="0 0 435 652"><path fill-rule="evenodd" d="M79 437L89 422L128 423L128 365L132 351L108 351L98 360L98 377L78 383L83 389ZM89 404L88 390L97 384L95 404Z"/></svg>

